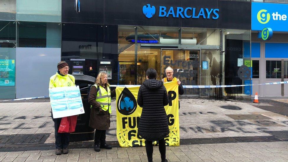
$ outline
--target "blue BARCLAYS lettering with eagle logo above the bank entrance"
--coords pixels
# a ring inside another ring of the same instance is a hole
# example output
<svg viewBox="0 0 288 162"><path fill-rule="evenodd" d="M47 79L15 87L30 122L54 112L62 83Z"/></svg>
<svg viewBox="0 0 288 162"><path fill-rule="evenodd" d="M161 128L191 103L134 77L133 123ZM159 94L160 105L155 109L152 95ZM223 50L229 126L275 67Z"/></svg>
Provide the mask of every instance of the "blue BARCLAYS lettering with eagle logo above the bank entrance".
<svg viewBox="0 0 288 162"><path fill-rule="evenodd" d="M155 14L158 17L181 17L181 18L194 18L194 19L218 19L219 18L219 9L210 9L210 8L192 8L192 7L166 7L159 6L158 13L156 13L155 6L146 4L142 8L143 14L147 18L153 17Z"/></svg>

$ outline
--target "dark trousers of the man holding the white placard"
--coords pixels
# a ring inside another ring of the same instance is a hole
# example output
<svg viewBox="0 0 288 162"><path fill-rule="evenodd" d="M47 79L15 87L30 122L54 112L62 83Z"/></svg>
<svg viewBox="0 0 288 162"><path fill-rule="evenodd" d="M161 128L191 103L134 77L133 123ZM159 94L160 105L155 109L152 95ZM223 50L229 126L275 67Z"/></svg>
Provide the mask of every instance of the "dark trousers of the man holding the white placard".
<svg viewBox="0 0 288 162"><path fill-rule="evenodd" d="M52 119L53 119L53 117L52 117ZM61 119L62 118L53 119L54 126L55 126L55 146L56 146L56 149L67 148L69 145L70 133L58 133Z"/></svg>

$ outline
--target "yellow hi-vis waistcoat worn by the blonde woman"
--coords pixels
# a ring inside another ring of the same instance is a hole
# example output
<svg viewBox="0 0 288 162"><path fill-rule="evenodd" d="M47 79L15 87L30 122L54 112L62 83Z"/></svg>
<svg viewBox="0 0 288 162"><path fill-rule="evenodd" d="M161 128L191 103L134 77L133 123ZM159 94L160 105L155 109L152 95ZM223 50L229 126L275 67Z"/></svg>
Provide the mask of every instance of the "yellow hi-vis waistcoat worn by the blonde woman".
<svg viewBox="0 0 288 162"><path fill-rule="evenodd" d="M96 88L98 87L97 84L94 84ZM96 95L96 102L98 102L101 105L101 109L104 111L109 111L109 114L111 114L111 91L110 88L107 87L107 91L102 86L99 86L99 91ZM91 106L92 107L92 106Z"/></svg>

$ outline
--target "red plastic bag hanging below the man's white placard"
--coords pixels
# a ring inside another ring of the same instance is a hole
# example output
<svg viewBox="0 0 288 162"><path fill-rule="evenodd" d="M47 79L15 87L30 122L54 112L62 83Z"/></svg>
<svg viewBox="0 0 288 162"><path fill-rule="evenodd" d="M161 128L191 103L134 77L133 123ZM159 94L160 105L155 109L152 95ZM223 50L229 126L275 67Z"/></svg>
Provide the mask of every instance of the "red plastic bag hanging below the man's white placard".
<svg viewBox="0 0 288 162"><path fill-rule="evenodd" d="M62 117L58 133L75 132L76 123L77 123L77 115L70 117Z"/></svg>

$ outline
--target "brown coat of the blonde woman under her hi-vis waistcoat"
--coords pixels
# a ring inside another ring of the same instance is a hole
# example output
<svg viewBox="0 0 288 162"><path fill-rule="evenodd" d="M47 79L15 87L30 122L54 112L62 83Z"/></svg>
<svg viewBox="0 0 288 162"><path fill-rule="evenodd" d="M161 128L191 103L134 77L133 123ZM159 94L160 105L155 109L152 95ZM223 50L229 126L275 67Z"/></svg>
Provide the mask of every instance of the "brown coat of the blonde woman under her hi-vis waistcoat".
<svg viewBox="0 0 288 162"><path fill-rule="evenodd" d="M107 91L107 86L104 88ZM108 130L110 127L110 114L108 110L102 110L100 104L96 102L97 92L97 88L92 86L88 96L88 102L92 105L89 126L97 130ZM115 90L111 91L111 98L114 96L116 96Z"/></svg>

